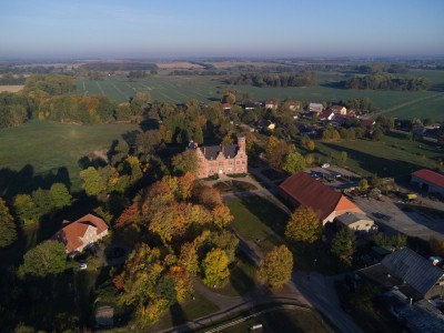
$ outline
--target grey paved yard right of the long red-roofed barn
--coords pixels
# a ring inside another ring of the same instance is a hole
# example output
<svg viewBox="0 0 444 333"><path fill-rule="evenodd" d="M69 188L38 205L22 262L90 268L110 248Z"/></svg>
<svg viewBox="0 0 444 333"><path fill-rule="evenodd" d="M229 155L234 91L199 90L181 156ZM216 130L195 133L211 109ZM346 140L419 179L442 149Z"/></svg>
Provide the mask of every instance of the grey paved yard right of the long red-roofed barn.
<svg viewBox="0 0 444 333"><path fill-rule="evenodd" d="M426 204L410 205L405 202L382 196L354 196L352 200L377 224L382 231L393 234L405 233L425 241L430 238L444 239L444 211ZM444 209L444 204L443 204Z"/></svg>

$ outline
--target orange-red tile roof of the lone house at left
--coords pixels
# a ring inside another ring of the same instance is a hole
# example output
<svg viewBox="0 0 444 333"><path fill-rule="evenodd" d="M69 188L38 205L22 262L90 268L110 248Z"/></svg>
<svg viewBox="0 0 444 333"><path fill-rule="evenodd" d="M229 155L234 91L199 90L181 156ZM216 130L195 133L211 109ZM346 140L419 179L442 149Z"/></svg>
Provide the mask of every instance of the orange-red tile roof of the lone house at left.
<svg viewBox="0 0 444 333"><path fill-rule="evenodd" d="M103 231L108 230L108 225L102 219L88 214L59 230L56 233L54 239L63 242L67 253L71 253L82 245L85 245L81 241L81 238L84 236L89 226L95 229L97 235L100 235Z"/></svg>

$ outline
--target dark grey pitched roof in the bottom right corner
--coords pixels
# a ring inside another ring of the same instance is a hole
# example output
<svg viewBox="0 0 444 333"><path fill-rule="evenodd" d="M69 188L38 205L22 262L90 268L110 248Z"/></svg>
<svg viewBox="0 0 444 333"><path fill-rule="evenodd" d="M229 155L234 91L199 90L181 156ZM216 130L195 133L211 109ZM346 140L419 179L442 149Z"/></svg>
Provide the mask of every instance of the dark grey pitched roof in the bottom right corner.
<svg viewBox="0 0 444 333"><path fill-rule="evenodd" d="M386 255L381 263L423 296L444 276L442 269L407 248Z"/></svg>

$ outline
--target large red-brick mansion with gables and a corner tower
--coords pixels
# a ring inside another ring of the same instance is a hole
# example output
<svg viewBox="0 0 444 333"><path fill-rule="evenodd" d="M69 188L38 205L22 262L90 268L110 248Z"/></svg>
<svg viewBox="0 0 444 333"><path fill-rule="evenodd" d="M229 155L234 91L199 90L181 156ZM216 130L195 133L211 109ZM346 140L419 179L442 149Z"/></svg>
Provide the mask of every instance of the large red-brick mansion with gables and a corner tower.
<svg viewBox="0 0 444 333"><path fill-rule="evenodd" d="M213 174L233 174L248 172L248 157L245 152L245 138L238 138L236 144L203 145L190 142L189 149L198 154L196 176L208 178Z"/></svg>

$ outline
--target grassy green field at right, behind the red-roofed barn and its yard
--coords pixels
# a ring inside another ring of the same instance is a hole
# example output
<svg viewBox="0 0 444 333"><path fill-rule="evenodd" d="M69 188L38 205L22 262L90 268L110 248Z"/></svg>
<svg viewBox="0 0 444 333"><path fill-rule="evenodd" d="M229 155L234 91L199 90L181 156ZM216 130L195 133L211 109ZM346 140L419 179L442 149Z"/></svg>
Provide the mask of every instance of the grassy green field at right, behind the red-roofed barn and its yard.
<svg viewBox="0 0 444 333"><path fill-rule="evenodd" d="M433 145L407 141L395 135L384 135L380 142L352 140L339 142L316 142L319 162L333 162L369 176L402 176L421 168L437 168L443 159ZM347 153L345 163L341 152Z"/></svg>

